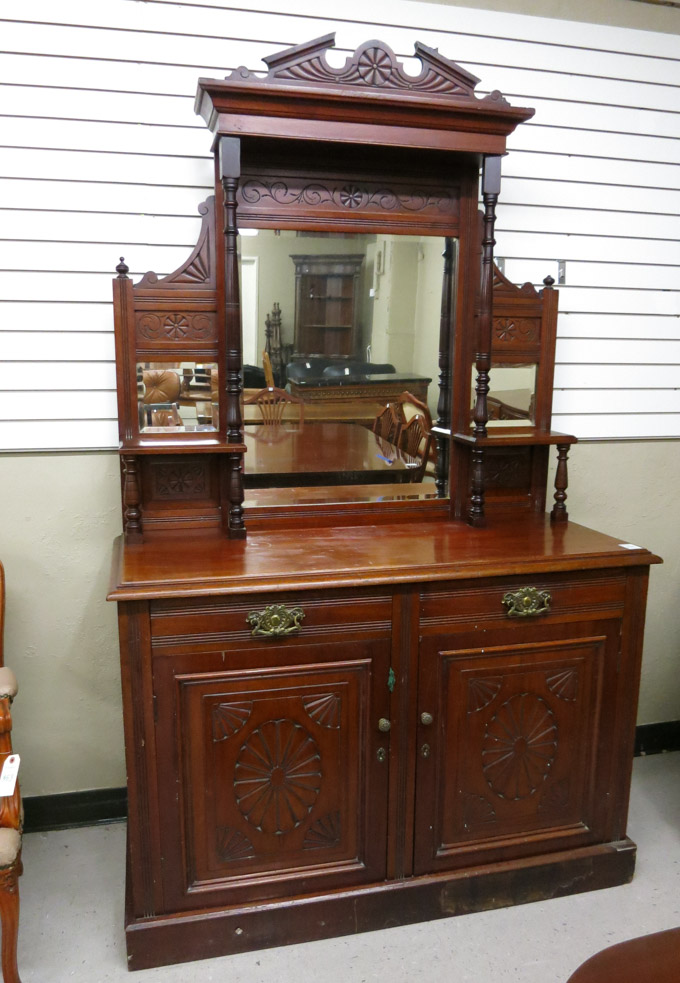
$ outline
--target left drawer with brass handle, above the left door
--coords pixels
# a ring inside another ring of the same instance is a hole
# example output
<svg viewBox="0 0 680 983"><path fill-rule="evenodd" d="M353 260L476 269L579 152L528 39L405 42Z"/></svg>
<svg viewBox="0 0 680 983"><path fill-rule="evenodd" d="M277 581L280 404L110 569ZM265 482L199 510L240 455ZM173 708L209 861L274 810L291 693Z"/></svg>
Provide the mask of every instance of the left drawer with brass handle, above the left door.
<svg viewBox="0 0 680 983"><path fill-rule="evenodd" d="M214 651L243 645L318 644L352 638L358 641L391 637L391 626L389 588L151 602L151 642L155 652L178 647Z"/></svg>

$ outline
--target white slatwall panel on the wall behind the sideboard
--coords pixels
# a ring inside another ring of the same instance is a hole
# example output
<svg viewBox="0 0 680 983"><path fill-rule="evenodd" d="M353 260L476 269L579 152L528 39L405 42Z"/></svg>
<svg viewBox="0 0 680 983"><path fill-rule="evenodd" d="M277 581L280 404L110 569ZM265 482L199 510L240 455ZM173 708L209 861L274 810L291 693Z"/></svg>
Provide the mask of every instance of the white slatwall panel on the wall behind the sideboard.
<svg viewBox="0 0 680 983"><path fill-rule="evenodd" d="M676 35L405 0L3 13L0 447L115 446L111 277L120 255L135 277L170 272L196 241L212 185L196 79L333 30L335 64L370 37L402 57L420 39L536 108L509 141L497 254L537 284L566 260L555 426L680 434Z"/></svg>

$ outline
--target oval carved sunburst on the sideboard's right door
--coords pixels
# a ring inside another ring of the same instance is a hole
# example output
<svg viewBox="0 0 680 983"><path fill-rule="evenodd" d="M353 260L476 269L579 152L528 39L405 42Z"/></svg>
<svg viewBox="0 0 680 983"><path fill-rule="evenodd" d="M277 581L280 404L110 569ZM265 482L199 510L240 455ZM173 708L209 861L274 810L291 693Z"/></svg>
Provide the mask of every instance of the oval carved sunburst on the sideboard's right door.
<svg viewBox="0 0 680 983"><path fill-rule="evenodd" d="M557 752L552 710L534 693L518 693L486 727L482 767L489 787L502 799L527 799L545 781Z"/></svg>

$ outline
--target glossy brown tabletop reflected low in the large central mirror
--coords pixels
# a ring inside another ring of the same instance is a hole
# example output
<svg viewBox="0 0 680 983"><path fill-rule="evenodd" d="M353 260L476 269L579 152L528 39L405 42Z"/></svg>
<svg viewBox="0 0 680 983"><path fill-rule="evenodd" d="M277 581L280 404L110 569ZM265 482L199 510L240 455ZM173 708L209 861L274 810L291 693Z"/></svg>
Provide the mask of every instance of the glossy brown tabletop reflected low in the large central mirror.
<svg viewBox="0 0 680 983"><path fill-rule="evenodd" d="M245 428L246 488L410 481L419 462L356 423Z"/></svg>

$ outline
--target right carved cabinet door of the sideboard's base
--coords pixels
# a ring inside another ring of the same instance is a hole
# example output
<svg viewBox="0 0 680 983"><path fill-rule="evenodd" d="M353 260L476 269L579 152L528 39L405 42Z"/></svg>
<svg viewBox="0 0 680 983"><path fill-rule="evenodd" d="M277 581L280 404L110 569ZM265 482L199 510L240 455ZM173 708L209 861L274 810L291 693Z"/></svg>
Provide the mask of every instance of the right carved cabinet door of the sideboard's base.
<svg viewBox="0 0 680 983"><path fill-rule="evenodd" d="M514 626L484 632L481 646L479 632L426 639L417 873L608 838L618 629Z"/></svg>

